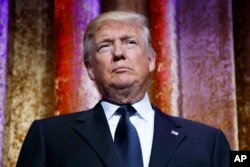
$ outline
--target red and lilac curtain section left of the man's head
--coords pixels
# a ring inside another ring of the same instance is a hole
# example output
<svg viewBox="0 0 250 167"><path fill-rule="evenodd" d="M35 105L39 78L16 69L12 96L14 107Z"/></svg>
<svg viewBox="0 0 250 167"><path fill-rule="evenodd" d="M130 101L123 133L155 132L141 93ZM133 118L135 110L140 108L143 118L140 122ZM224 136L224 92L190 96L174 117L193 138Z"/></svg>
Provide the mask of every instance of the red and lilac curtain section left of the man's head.
<svg viewBox="0 0 250 167"><path fill-rule="evenodd" d="M83 63L86 25L100 13L99 0L55 0L56 114L93 107L99 94Z"/></svg>

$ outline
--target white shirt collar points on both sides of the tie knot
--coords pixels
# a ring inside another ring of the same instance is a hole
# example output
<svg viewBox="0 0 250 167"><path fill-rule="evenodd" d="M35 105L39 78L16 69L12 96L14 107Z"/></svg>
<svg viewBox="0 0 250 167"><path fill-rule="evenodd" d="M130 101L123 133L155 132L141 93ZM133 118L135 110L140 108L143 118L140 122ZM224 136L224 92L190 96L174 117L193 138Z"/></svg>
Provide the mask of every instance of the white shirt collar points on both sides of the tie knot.
<svg viewBox="0 0 250 167"><path fill-rule="evenodd" d="M107 120L115 114L115 111L120 107L119 105L109 103L107 101L101 101L101 105L105 111ZM152 122L154 119L154 110L149 102L148 94L146 93L142 100L132 104L132 106L138 112L138 115L148 122Z"/></svg>

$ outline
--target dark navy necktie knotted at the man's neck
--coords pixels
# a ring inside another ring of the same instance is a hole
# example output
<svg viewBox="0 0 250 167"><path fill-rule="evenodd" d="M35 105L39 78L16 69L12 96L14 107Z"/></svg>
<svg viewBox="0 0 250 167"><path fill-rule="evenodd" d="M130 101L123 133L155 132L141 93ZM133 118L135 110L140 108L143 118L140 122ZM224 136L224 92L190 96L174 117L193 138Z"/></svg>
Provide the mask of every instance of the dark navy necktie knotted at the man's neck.
<svg viewBox="0 0 250 167"><path fill-rule="evenodd" d="M122 105L116 111L121 115L115 132L115 147L121 167L143 167L140 140L129 117L136 113L131 105Z"/></svg>

